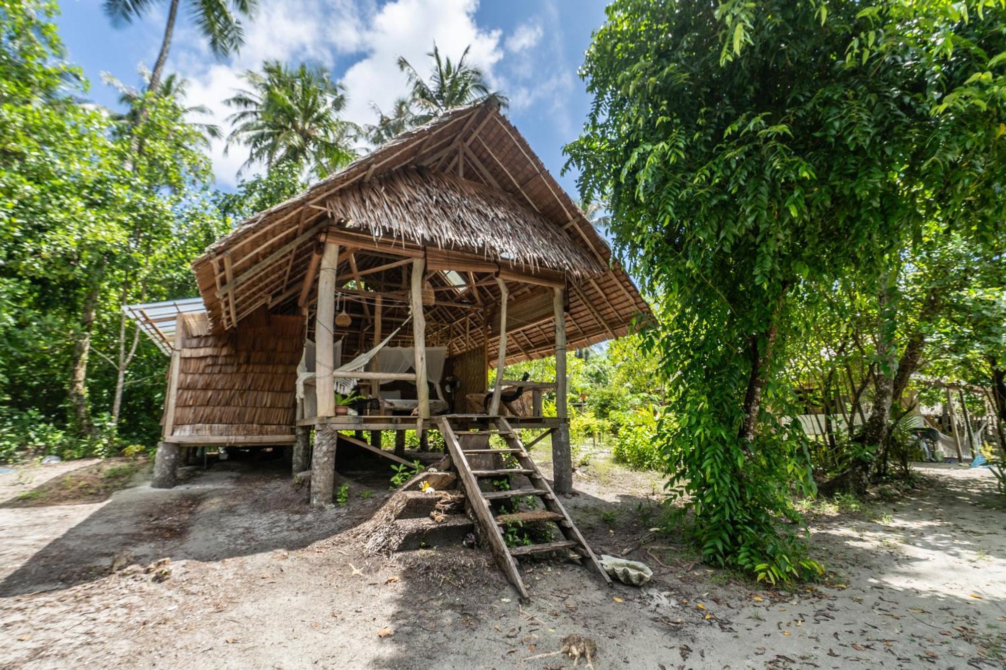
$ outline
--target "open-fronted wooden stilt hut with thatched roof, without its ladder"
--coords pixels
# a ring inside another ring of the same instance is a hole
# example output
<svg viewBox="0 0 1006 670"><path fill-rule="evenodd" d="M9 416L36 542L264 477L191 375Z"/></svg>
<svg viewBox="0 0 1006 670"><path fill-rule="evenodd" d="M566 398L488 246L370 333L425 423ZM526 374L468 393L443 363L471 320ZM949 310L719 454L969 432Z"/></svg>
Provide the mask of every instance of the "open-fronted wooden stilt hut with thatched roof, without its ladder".
<svg viewBox="0 0 1006 670"><path fill-rule="evenodd" d="M624 335L648 311L492 104L400 135L242 222L192 268L201 309L131 308L172 358L155 485L173 483L178 450L193 446L289 444L294 470L307 469L316 431L317 505L332 500L336 440L369 447L337 431L486 417L551 432L554 487L570 490L566 349ZM555 379L488 388L491 367L499 378L552 354ZM343 413L337 389L366 399ZM557 415L544 416L553 390Z"/></svg>

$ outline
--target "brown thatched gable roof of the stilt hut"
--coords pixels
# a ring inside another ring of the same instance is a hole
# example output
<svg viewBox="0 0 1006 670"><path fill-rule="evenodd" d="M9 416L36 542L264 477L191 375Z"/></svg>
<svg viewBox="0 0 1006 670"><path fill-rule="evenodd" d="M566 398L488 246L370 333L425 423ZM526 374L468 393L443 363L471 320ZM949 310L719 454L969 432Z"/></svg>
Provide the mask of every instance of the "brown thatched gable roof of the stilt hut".
<svg viewBox="0 0 1006 670"><path fill-rule="evenodd" d="M564 276L571 347L624 335L634 316L649 311L593 224L490 104L452 111L403 133L210 245L193 270L212 327L232 329L264 306L274 313L299 312L306 278L306 290L312 290L317 274L312 259L325 231L339 236L347 249L340 255L339 277L348 282L357 272L373 271L367 279L385 292L402 286L402 268L376 271L397 256L427 256L428 269L435 268L434 250L442 261L464 256L470 268L472 259L485 262L483 271L466 280L478 288L453 297L455 304L472 303L471 309L445 304L432 317L442 324L457 322L445 336L462 330L468 344L484 337L474 310L498 301L493 283L484 281L493 272L508 271L511 278ZM448 269L441 263L440 271ZM430 279L435 287L449 288L443 275ZM547 355L549 328L539 318L543 312L532 309L541 302L534 295L541 287L512 281L511 303L525 301L527 327L508 345L508 353L518 349L510 359ZM312 302L313 293L308 297ZM385 320L392 323L393 306L388 313L388 302L384 305ZM407 300L400 307L407 307ZM367 307L356 309L354 319L361 321L348 330L363 338ZM521 313L516 307L511 311ZM490 335L490 347L494 339Z"/></svg>

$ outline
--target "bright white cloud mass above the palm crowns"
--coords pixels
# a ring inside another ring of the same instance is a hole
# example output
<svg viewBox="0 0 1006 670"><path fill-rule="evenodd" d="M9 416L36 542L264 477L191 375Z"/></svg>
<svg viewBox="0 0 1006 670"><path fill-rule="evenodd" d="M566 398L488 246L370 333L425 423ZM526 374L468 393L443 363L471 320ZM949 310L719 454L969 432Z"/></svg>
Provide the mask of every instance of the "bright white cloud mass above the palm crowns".
<svg viewBox="0 0 1006 670"><path fill-rule="evenodd" d="M227 132L230 110L222 101L241 88L244 70L259 68L266 59L333 67L357 55L341 77L349 98L346 118L372 123L371 102L389 109L404 94L405 77L397 57L403 55L425 74L427 53L435 42L452 58L471 45L469 61L499 87L501 79L493 66L503 57L501 31L480 28L475 21L477 8L478 0L393 0L379 8L373 0L271 0L262 3L256 20L245 25L239 54L219 62L205 40L186 28L178 31L169 68L189 79L189 105L211 110L211 118L200 121ZM214 142L211 158L217 181L234 185L246 158L244 149L234 147L224 156L223 143Z"/></svg>

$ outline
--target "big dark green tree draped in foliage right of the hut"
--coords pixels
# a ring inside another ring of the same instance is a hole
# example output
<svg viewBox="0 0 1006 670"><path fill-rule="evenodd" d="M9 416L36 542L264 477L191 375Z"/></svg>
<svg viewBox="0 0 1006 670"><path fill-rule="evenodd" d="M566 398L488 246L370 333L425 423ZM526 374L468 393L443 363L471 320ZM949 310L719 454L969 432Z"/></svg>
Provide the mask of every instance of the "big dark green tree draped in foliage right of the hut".
<svg viewBox="0 0 1006 670"><path fill-rule="evenodd" d="M677 375L672 491L707 559L769 578L813 567L778 523L797 518L793 488L810 490L801 435L778 421L786 349L813 325L792 297L853 268L877 294L892 286L888 260L925 218L924 141L946 127L932 122L935 71L851 46L871 28L860 9L615 2L582 68L594 109L567 147L663 322L650 337ZM894 23L890 39L918 25Z"/></svg>

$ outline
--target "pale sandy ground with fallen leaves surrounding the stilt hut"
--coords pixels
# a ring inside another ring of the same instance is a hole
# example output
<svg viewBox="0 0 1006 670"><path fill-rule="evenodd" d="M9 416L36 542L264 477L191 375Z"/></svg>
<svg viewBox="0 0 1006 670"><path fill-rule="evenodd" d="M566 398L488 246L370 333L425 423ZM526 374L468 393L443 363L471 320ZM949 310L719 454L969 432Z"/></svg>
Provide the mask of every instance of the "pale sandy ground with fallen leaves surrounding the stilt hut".
<svg viewBox="0 0 1006 670"><path fill-rule="evenodd" d="M531 670L571 667L522 660L570 633L597 641L599 670L1003 667L1006 529L983 470L919 466L931 484L910 495L815 517L827 583L783 593L649 537L659 478L599 458L567 508L597 550L631 549L654 580L522 562L521 606L482 551L354 549L383 474L322 512L280 462L189 471L170 491L140 479L99 502L17 499L88 466L0 475L0 667Z"/></svg>

